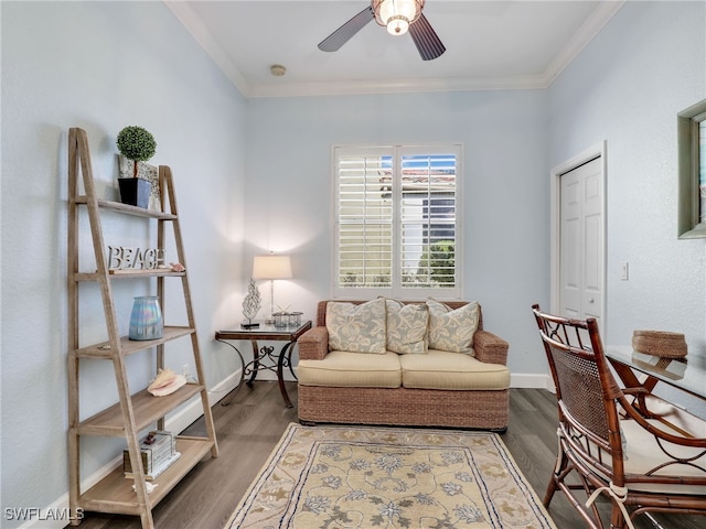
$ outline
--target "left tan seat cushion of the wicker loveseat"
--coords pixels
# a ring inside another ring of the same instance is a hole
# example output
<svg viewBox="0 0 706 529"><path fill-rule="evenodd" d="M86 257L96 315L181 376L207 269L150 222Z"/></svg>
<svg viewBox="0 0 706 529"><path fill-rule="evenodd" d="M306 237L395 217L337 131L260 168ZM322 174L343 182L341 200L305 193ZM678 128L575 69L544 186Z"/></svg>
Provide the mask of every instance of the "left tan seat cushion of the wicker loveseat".
<svg viewBox="0 0 706 529"><path fill-rule="evenodd" d="M303 386L398 388L402 385L396 353L370 355L332 350L322 360L299 360L297 377Z"/></svg>

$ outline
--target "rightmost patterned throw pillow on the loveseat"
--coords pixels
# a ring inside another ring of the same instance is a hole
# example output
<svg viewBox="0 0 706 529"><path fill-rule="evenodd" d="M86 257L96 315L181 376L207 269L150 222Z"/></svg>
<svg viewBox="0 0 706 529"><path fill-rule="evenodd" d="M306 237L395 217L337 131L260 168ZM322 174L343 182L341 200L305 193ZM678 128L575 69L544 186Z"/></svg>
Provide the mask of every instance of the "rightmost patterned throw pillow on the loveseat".
<svg viewBox="0 0 706 529"><path fill-rule="evenodd" d="M468 303L460 309L436 300L427 300L429 307L429 348L473 354L473 334L478 330L479 305Z"/></svg>

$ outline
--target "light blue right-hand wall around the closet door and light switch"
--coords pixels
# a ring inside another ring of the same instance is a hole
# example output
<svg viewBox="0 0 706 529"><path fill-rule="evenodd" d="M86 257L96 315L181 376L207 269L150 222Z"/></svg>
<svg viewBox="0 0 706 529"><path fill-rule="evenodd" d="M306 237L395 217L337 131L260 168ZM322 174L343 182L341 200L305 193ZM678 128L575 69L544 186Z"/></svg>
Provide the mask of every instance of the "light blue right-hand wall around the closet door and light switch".
<svg viewBox="0 0 706 529"><path fill-rule="evenodd" d="M676 114L704 98L704 2L628 2L549 88L552 166L607 142L607 344L663 330L706 355L706 241L676 238Z"/></svg>

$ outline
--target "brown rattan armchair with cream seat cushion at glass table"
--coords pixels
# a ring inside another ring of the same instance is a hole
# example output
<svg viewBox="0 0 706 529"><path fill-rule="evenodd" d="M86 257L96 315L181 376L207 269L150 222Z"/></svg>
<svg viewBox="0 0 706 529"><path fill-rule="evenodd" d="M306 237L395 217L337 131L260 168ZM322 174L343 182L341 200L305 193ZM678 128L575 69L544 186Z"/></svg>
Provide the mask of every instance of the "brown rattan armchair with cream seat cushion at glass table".
<svg viewBox="0 0 706 529"><path fill-rule="evenodd" d="M544 505L560 489L593 529L607 527L595 505L600 494L612 504L611 528L632 528L632 519L646 512L706 515L705 422L645 388L621 389L596 320L553 316L538 305L533 312L559 412L559 449ZM580 483L568 483L573 474ZM588 496L586 507L576 490Z"/></svg>

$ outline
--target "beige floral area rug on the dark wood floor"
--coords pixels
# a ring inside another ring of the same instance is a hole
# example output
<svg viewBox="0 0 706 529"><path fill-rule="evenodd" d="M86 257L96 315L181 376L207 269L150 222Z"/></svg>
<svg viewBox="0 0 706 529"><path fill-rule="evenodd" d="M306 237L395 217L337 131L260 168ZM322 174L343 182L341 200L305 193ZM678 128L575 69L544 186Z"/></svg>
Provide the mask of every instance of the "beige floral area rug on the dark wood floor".
<svg viewBox="0 0 706 529"><path fill-rule="evenodd" d="M556 529L499 435L290 424L228 529Z"/></svg>

